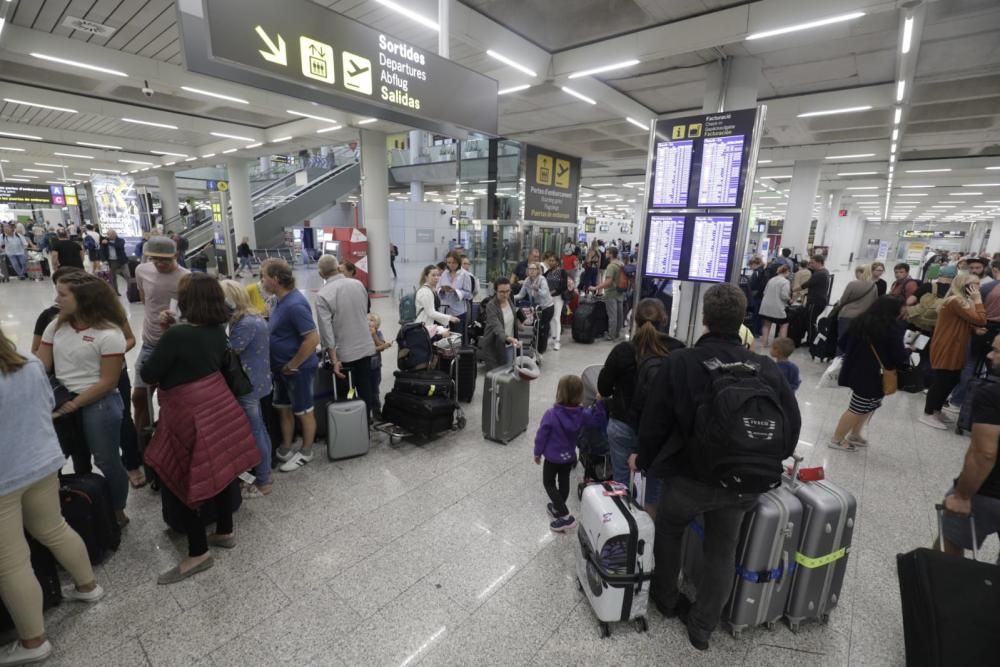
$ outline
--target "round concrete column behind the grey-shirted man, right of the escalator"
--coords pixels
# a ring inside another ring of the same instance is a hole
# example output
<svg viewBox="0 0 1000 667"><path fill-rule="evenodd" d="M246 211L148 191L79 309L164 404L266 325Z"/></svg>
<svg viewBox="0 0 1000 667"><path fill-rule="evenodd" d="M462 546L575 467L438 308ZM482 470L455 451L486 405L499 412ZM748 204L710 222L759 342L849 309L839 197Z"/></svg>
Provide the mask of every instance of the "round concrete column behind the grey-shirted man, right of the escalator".
<svg viewBox="0 0 1000 667"><path fill-rule="evenodd" d="M385 134L361 130L361 224L368 235L368 289L392 289L389 272L389 167Z"/></svg>

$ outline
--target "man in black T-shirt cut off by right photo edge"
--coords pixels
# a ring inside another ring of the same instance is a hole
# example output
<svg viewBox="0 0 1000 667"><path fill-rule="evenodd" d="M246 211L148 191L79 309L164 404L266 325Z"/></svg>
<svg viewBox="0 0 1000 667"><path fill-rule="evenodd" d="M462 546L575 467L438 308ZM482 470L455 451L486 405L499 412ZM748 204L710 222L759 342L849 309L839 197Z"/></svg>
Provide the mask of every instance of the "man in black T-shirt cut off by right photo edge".
<svg viewBox="0 0 1000 667"><path fill-rule="evenodd" d="M1000 336L987 355L992 371L1000 371ZM1000 533L1000 382L981 385L972 398L972 443L955 486L944 499L944 550L964 555L972 548L969 514L976 519L976 547Z"/></svg>

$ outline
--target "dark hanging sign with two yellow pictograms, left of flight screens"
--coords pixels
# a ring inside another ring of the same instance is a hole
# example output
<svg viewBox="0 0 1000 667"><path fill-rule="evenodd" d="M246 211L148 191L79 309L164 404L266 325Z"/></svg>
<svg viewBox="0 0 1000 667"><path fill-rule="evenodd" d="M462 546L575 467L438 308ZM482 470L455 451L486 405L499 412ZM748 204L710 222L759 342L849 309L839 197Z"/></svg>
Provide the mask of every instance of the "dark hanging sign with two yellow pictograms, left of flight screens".
<svg viewBox="0 0 1000 667"><path fill-rule="evenodd" d="M524 184L524 219L575 222L580 194L578 157L528 145Z"/></svg>

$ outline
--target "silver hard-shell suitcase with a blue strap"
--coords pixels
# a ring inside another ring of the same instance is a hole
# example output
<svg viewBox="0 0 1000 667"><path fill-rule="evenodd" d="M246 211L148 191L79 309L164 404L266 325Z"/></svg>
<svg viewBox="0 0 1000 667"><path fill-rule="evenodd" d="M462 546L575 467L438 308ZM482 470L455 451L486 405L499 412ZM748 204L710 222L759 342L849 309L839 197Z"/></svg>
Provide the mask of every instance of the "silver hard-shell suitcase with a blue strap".
<svg viewBox="0 0 1000 667"><path fill-rule="evenodd" d="M733 591L722 612L734 637L748 627L771 628L781 620L801 535L802 502L784 487L762 493L744 516Z"/></svg>

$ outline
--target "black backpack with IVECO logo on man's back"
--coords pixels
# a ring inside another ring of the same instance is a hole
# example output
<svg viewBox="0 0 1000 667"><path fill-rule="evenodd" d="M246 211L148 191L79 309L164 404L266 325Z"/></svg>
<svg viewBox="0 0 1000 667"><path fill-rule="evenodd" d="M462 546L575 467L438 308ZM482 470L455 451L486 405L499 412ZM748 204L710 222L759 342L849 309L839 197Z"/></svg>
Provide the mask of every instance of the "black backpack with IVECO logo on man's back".
<svg viewBox="0 0 1000 667"><path fill-rule="evenodd" d="M762 493L781 484L788 433L775 389L751 361L702 362L710 375L695 413L688 451L699 478L709 484Z"/></svg>

